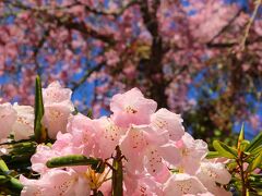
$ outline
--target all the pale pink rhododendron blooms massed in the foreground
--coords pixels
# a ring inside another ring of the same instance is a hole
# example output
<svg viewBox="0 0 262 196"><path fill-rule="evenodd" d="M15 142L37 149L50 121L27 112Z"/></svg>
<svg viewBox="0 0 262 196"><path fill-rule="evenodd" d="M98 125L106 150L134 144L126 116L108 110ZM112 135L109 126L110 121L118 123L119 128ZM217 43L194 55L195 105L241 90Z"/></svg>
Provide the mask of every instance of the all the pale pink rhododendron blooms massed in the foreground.
<svg viewBox="0 0 262 196"><path fill-rule="evenodd" d="M179 114L158 109L138 88L111 98L109 117L91 119L73 112L71 90L58 82L43 89L43 124L52 145L39 144L31 158L39 179L24 175L22 195L91 195L94 189L111 194L112 156L122 154L124 195L230 195L224 185L230 174L224 163L207 160L207 145L184 132ZM0 106L1 139L33 134L33 109L27 106ZM19 128L17 128L19 127ZM51 158L83 155L106 162L96 173L91 166L47 168Z"/></svg>

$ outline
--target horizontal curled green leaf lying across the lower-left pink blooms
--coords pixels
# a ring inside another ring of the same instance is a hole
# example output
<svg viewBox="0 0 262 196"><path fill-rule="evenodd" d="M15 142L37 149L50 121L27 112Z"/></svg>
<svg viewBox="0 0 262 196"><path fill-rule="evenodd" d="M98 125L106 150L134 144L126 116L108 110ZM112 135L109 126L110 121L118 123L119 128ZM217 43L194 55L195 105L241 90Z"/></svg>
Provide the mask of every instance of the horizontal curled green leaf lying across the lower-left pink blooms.
<svg viewBox="0 0 262 196"><path fill-rule="evenodd" d="M69 166L88 166L97 168L97 164L100 162L100 159L87 158L83 155L69 155L63 157L52 158L47 161L46 166L48 168L59 168L59 167L69 167Z"/></svg>

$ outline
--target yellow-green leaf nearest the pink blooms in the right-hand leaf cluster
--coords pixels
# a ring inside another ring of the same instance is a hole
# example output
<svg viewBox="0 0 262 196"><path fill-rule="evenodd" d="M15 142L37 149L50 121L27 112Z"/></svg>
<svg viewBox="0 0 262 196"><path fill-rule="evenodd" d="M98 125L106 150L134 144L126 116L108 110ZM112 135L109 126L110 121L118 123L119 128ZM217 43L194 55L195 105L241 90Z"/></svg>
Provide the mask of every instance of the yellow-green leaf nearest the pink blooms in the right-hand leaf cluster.
<svg viewBox="0 0 262 196"><path fill-rule="evenodd" d="M235 148L231 148L219 140L214 140L213 146L222 157L226 157L229 159L235 159L238 157L238 152Z"/></svg>

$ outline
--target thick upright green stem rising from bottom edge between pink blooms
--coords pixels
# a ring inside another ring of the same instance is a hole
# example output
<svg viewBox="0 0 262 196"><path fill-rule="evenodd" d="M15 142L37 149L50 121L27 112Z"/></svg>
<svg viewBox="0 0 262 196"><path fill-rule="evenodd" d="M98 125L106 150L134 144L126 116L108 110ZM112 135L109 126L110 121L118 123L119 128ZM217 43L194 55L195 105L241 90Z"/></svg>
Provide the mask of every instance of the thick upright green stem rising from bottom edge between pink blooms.
<svg viewBox="0 0 262 196"><path fill-rule="evenodd" d="M123 181L123 173L122 173L122 154L119 146L116 147L116 156L114 157L112 161L112 196L121 196L123 195L122 189L122 181Z"/></svg>

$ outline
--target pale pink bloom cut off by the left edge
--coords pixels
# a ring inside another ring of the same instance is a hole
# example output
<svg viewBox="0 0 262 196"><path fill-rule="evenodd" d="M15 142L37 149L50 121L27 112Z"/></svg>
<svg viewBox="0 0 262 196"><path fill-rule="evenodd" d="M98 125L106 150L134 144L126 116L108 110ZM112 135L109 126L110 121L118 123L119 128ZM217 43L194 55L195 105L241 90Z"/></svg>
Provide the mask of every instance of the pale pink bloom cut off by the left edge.
<svg viewBox="0 0 262 196"><path fill-rule="evenodd" d="M12 131L13 123L16 121L16 111L13 109L11 103L7 102L0 105L0 143L9 136Z"/></svg>

